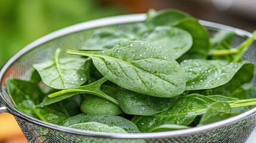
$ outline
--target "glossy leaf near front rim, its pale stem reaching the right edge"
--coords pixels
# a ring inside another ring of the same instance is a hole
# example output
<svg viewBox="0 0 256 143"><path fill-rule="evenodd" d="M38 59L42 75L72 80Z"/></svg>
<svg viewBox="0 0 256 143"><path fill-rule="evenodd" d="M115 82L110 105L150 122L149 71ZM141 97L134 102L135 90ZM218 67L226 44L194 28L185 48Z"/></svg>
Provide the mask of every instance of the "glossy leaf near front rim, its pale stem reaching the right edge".
<svg viewBox="0 0 256 143"><path fill-rule="evenodd" d="M132 122L138 126L141 132L149 132L149 130L165 124L187 126L195 120L196 116L204 114L209 105L214 102L217 101L211 99L211 96L206 97L199 94L174 97L168 110L152 116L134 116ZM239 100L232 99L227 102L229 102L231 108L236 108L251 105L255 103L255 100L239 102Z"/></svg>

